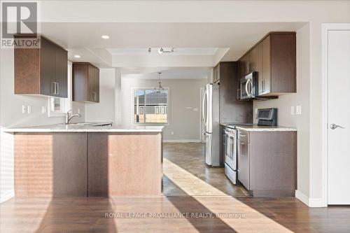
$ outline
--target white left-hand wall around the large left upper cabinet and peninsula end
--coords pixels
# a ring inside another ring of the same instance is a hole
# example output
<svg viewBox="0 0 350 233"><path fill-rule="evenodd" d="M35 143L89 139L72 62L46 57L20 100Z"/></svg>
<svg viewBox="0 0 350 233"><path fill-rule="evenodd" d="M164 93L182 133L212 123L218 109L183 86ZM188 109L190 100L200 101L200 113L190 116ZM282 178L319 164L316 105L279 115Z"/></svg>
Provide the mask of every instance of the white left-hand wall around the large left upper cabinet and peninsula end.
<svg viewBox="0 0 350 233"><path fill-rule="evenodd" d="M48 107L48 97L14 94L14 57L12 49L1 49L0 76L0 192L1 201L13 196L13 134L3 132L6 127L51 125L63 123L63 117L49 118L41 113L41 107ZM22 105L31 106L31 114L22 114ZM73 102L73 111L80 108L84 115L84 104ZM84 118L75 120L84 121Z"/></svg>

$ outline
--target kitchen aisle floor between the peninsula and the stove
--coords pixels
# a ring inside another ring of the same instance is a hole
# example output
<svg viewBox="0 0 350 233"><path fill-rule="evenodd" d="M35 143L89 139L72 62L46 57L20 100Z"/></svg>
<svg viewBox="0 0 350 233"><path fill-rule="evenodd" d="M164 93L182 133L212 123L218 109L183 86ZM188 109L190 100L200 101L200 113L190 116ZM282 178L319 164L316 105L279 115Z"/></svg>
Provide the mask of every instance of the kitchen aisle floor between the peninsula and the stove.
<svg viewBox="0 0 350 233"><path fill-rule="evenodd" d="M163 148L163 195L248 196L223 168L205 164L204 143L164 143Z"/></svg>

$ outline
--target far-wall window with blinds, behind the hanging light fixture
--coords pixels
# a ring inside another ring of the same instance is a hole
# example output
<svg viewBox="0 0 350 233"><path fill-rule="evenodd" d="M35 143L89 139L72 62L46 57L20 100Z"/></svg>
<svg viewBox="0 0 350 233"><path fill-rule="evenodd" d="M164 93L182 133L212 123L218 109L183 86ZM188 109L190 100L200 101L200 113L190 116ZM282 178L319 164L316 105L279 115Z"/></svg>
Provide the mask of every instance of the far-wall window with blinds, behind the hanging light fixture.
<svg viewBox="0 0 350 233"><path fill-rule="evenodd" d="M154 89L132 90L132 122L163 123L169 121L168 100L169 89L163 92Z"/></svg>

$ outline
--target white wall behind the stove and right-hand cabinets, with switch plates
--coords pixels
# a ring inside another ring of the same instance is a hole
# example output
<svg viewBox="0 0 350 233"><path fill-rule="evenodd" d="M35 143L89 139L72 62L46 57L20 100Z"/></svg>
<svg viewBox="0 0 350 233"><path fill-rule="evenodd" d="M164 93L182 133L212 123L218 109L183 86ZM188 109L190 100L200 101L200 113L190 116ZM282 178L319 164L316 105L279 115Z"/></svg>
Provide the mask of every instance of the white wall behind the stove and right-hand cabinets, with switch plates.
<svg viewBox="0 0 350 233"><path fill-rule="evenodd" d="M297 31L297 93L279 99L254 101L255 108L278 108L278 124L297 128L297 190L309 196L309 25ZM301 115L290 115L290 106L302 106ZM256 114L253 114L254 122Z"/></svg>

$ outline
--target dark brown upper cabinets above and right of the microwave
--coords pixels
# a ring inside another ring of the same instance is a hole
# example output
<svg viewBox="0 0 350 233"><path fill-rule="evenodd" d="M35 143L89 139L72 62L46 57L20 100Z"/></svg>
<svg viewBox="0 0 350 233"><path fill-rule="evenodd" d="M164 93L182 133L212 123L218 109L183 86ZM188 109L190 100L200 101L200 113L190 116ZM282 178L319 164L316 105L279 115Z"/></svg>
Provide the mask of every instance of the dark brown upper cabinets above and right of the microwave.
<svg viewBox="0 0 350 233"><path fill-rule="evenodd" d="M258 72L258 95L278 97L296 90L296 34L271 32L239 59L239 77Z"/></svg>

